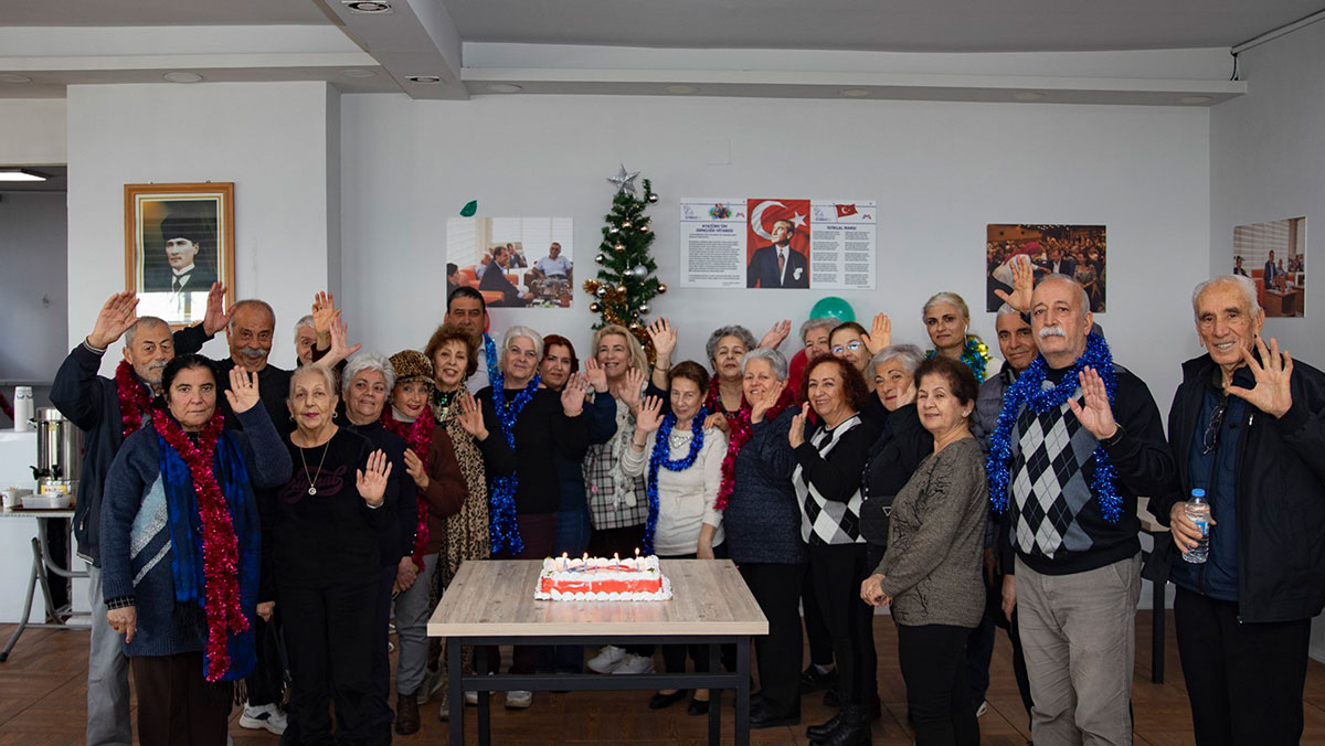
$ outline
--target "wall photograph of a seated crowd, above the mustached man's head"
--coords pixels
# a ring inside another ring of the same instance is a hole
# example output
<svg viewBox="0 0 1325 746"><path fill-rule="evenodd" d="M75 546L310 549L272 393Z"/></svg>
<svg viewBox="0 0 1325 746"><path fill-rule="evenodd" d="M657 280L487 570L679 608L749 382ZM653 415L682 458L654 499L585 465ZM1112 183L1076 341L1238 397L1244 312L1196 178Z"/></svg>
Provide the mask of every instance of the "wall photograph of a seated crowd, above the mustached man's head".
<svg viewBox="0 0 1325 746"><path fill-rule="evenodd" d="M991 223L984 236L984 310L1003 301L994 290L1012 290L1012 260L1024 256L1035 266L1035 280L1065 274L1085 288L1090 313L1105 311L1106 261L1104 225L1051 225Z"/></svg>

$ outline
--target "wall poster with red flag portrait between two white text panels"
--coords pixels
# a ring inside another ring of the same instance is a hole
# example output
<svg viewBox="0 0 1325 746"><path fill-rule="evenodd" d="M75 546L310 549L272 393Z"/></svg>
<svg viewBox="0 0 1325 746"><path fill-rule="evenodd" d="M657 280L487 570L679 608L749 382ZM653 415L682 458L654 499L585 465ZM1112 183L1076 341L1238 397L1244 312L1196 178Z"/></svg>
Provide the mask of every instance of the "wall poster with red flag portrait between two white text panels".
<svg viewBox="0 0 1325 746"><path fill-rule="evenodd" d="M681 286L874 288L876 203L682 199Z"/></svg>

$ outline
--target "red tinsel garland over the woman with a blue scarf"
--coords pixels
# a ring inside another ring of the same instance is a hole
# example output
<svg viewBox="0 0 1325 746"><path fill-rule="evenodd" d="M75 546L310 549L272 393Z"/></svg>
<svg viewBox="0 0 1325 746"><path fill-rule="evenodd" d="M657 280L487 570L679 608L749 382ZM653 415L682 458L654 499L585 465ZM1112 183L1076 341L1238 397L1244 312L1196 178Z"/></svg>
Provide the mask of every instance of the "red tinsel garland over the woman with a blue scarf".
<svg viewBox="0 0 1325 746"><path fill-rule="evenodd" d="M118 378L118 374L117 374ZM227 637L249 628L248 617L240 608L238 539L231 522L221 485L212 473L216 457L216 439L225 427L225 417L217 411L207 423L195 445L164 409L152 409L152 427L162 439L179 452L193 477L197 496L197 515L203 523L203 579L204 611L207 612L207 670L208 681L220 681L231 668Z"/></svg>

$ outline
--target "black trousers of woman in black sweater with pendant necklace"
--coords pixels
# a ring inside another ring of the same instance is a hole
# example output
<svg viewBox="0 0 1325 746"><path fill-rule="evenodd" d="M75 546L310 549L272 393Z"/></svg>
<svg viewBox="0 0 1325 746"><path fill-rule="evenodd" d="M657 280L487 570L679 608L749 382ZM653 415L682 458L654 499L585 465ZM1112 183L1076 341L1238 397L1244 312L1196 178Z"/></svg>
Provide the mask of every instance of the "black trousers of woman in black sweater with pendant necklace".
<svg viewBox="0 0 1325 746"><path fill-rule="evenodd" d="M378 592L376 579L322 588L277 580L277 606L285 611L285 643L294 678L290 696L302 746L366 746L374 741Z"/></svg>

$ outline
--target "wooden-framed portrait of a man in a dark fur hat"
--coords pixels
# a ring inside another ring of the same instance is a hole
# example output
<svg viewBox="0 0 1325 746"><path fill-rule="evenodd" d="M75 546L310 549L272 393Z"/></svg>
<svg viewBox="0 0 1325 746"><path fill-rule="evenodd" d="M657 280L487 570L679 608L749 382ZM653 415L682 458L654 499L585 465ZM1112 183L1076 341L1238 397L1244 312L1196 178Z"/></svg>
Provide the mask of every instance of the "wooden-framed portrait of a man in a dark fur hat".
<svg viewBox="0 0 1325 746"><path fill-rule="evenodd" d="M235 301L235 183L125 184L125 289L138 315L187 326L213 282Z"/></svg>

